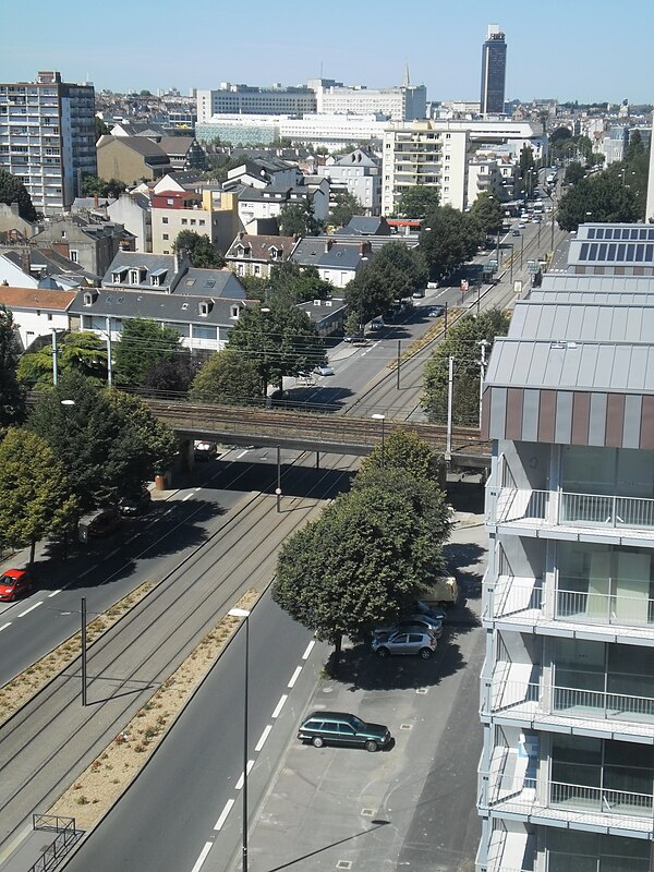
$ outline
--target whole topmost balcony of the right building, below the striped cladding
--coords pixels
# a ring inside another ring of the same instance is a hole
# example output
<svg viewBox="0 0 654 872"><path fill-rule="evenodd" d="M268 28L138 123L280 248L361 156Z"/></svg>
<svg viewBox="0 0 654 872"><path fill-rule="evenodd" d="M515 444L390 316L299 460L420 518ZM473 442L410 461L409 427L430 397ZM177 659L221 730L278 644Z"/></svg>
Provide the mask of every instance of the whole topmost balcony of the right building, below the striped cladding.
<svg viewBox="0 0 654 872"><path fill-rule="evenodd" d="M642 544L654 530L654 499L645 497L489 487L486 505L487 524L528 535L556 538L561 530L601 532Z"/></svg>

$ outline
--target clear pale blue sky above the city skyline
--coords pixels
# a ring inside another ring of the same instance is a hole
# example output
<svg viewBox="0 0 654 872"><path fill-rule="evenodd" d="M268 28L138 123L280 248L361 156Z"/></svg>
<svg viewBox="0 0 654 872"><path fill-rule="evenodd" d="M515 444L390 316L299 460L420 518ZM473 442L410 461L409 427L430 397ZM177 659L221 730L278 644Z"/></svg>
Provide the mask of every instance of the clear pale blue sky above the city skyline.
<svg viewBox="0 0 654 872"><path fill-rule="evenodd" d="M383 87L409 63L429 99L476 100L488 24L506 33L507 99L654 102L652 0L25 0L3 7L0 81L59 70L98 90L187 94L322 73Z"/></svg>

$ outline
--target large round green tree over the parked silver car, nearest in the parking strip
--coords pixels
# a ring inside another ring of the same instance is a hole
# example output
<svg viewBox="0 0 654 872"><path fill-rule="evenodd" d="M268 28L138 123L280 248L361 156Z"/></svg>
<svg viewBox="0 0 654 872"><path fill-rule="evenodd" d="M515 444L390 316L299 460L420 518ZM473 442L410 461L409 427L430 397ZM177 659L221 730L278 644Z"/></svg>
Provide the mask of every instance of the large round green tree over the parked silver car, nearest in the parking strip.
<svg viewBox="0 0 654 872"><path fill-rule="evenodd" d="M443 495L402 472L341 494L282 545L272 598L335 646L364 639L409 607L438 572L449 534Z"/></svg>

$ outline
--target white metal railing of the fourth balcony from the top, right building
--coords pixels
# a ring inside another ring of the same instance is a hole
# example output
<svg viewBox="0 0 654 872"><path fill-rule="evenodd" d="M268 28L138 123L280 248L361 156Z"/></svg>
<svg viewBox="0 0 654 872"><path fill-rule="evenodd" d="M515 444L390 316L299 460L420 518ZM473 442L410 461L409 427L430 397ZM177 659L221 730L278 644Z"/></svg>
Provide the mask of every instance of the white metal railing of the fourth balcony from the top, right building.
<svg viewBox="0 0 654 872"><path fill-rule="evenodd" d="M489 780L487 790L482 790L480 807L524 816L543 818L549 813L556 820L581 821L588 815L589 824L601 824L603 819L614 832L618 828L650 832L654 795L565 782L542 784L534 777L511 782L499 777Z"/></svg>

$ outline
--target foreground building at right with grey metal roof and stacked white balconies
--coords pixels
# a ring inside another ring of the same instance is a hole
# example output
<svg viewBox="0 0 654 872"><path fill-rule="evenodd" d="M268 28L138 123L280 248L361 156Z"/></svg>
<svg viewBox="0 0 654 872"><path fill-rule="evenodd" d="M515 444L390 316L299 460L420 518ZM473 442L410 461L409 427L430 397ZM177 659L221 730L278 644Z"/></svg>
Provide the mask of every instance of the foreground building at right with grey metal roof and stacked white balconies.
<svg viewBox="0 0 654 872"><path fill-rule="evenodd" d="M517 306L484 383L494 450L477 870L645 872L654 308L644 294L568 303L557 281Z"/></svg>

